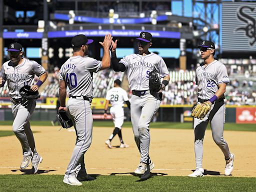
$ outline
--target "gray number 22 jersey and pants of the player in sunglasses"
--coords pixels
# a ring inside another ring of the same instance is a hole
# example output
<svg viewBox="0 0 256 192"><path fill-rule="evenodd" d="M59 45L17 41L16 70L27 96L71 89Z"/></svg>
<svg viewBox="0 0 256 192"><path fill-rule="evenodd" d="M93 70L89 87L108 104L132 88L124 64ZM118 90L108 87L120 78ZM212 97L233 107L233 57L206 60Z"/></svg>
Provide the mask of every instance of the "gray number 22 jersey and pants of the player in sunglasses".
<svg viewBox="0 0 256 192"><path fill-rule="evenodd" d="M228 83L227 70L223 63L213 60L211 63L196 68L196 83L198 85L198 98L210 99L218 90L218 84ZM210 122L212 137L219 146L225 159L230 157L229 147L223 138L225 122L225 104L223 98L217 99L203 119L194 118L194 152L196 167L202 167L203 137Z"/></svg>

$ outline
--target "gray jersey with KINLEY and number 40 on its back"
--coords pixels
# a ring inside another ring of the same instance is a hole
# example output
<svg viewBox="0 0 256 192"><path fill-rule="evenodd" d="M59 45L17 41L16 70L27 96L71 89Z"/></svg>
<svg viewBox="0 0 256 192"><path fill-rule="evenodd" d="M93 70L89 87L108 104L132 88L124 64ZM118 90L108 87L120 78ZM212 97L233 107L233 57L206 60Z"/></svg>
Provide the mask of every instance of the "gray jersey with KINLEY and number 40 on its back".
<svg viewBox="0 0 256 192"><path fill-rule="evenodd" d="M93 97L92 72L97 72L101 64L88 56L69 57L59 71L59 79L68 85L69 96Z"/></svg>

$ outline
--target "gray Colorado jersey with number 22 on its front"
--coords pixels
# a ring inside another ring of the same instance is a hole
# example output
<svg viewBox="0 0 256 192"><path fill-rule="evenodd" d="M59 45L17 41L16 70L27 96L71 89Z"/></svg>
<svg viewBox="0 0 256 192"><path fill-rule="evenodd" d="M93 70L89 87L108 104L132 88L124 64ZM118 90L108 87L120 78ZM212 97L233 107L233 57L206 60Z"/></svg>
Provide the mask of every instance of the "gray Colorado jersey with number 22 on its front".
<svg viewBox="0 0 256 192"><path fill-rule="evenodd" d="M198 85L198 98L210 99L218 90L218 84L229 83L227 70L218 60L196 68L196 84Z"/></svg>

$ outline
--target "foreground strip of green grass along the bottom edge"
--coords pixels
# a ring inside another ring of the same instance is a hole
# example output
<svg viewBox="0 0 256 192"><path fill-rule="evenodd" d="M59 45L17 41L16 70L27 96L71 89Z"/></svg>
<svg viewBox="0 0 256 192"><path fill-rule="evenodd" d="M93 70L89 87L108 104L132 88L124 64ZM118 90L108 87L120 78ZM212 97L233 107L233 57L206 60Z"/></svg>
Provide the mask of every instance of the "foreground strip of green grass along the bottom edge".
<svg viewBox="0 0 256 192"><path fill-rule="evenodd" d="M0 175L0 191L255 191L256 178L204 176L97 176L81 186L62 182L63 175Z"/></svg>

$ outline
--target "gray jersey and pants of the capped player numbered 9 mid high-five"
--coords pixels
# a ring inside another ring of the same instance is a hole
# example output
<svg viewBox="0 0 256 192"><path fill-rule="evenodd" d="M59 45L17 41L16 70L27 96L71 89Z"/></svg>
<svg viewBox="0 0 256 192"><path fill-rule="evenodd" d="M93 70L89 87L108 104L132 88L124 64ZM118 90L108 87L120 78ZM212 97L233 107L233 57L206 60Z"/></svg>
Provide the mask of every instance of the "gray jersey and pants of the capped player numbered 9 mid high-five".
<svg viewBox="0 0 256 192"><path fill-rule="evenodd" d="M149 123L160 106L160 100L149 92L149 72L154 68L160 77L169 74L164 60L151 52L147 55L130 54L123 57L119 62L127 69L129 86L132 90L144 90L144 95L131 96L130 117L135 142L140 152L140 162L150 162L148 155L150 134Z"/></svg>

